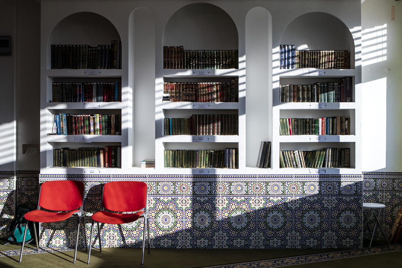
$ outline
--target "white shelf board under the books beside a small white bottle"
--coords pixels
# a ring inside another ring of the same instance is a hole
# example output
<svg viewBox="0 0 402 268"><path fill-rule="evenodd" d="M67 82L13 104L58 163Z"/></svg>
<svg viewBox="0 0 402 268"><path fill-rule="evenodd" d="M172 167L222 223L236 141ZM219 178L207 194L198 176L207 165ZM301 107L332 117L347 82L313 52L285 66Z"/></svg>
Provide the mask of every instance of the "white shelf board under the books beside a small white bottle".
<svg viewBox="0 0 402 268"><path fill-rule="evenodd" d="M122 142L123 138L121 135L47 135L45 140L46 142L77 142L84 145L91 142Z"/></svg>

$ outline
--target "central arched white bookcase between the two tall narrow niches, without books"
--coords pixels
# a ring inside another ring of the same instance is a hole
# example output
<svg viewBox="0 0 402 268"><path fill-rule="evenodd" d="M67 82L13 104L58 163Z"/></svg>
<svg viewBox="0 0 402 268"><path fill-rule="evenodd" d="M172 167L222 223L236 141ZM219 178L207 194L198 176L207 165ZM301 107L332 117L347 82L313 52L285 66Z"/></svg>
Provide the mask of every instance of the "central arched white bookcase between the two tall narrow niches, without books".
<svg viewBox="0 0 402 268"><path fill-rule="evenodd" d="M178 31L180 29L180 31ZM187 36L192 38L187 38ZM207 4L189 4L174 12L163 29L162 39L156 45L156 58L163 59L163 47L183 46L184 50L236 50L239 51L238 31L232 18L221 8ZM240 52L240 51L239 51ZM237 61L238 59L236 59ZM230 83L239 80L239 69L168 69L162 60L156 62L155 95L155 165L166 174L237 174L244 167L244 99L236 88L235 102L162 102L164 83ZM198 99L199 100L199 99ZM237 101L238 100L238 101ZM189 118L191 115L238 116L239 135L163 135L164 118ZM164 167L164 150L222 150L238 148L239 169L223 168L167 168Z"/></svg>

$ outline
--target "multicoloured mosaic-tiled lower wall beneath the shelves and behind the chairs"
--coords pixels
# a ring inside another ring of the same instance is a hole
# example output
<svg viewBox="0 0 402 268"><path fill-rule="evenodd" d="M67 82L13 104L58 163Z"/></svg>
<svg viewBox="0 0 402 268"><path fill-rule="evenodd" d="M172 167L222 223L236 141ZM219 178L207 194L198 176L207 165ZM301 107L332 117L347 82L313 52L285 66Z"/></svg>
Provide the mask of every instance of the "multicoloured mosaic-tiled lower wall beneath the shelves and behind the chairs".
<svg viewBox="0 0 402 268"><path fill-rule="evenodd" d="M388 232L402 201L400 173L364 173L362 177L361 174L39 176L37 172L18 172L17 203L36 208L38 181L64 179L84 181L88 241L90 215L100 208L102 185L116 180L147 182L151 244L157 248L358 248L361 203L387 205L382 221L384 231ZM8 189L7 196L12 196L15 189L10 184L13 180L13 173L2 177L2 181L8 181L8 188L4 188ZM2 204L6 204L3 198ZM8 207L4 205L5 209ZM41 224L41 245L73 246L75 233L74 219ZM103 225L101 237L104 247L139 247L142 220L122 226ZM84 245L82 235L79 243ZM98 241L94 245L98 247Z"/></svg>

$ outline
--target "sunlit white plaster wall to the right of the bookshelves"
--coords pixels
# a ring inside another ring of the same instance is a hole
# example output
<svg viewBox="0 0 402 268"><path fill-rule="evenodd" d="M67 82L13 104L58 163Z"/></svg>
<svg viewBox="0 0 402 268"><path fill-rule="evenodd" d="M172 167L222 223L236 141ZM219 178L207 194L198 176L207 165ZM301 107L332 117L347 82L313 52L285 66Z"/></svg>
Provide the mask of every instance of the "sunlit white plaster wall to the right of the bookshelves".
<svg viewBox="0 0 402 268"><path fill-rule="evenodd" d="M361 24L363 171L400 172L402 1L365 0Z"/></svg>

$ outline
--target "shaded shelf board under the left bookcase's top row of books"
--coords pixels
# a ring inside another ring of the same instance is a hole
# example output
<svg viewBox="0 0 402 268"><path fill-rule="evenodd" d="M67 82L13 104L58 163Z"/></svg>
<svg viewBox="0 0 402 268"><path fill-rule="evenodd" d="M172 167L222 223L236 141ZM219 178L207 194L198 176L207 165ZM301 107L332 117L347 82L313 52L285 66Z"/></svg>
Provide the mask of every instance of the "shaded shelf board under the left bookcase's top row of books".
<svg viewBox="0 0 402 268"><path fill-rule="evenodd" d="M47 69L45 75L53 78L90 77L90 78L119 78L121 69Z"/></svg>

